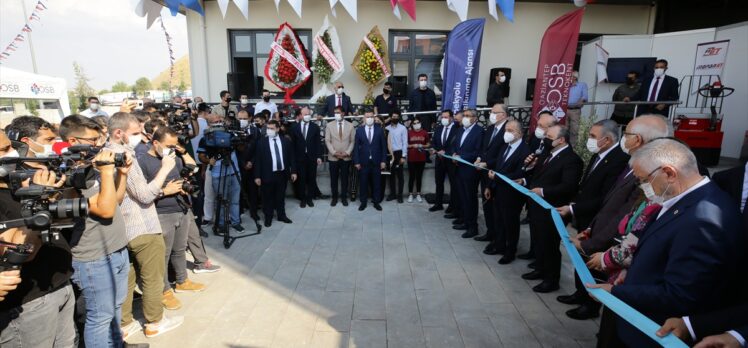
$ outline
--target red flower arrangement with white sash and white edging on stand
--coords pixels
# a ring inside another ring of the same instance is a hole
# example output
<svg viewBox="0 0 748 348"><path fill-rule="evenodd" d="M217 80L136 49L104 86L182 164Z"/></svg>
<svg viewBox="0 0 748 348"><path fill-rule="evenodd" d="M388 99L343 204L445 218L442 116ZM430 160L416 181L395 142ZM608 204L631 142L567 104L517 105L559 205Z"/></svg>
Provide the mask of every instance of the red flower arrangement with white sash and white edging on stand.
<svg viewBox="0 0 748 348"><path fill-rule="evenodd" d="M284 103L293 104L294 92L311 76L304 44L288 23L283 23L270 45L270 57L265 64L265 78L286 92Z"/></svg>

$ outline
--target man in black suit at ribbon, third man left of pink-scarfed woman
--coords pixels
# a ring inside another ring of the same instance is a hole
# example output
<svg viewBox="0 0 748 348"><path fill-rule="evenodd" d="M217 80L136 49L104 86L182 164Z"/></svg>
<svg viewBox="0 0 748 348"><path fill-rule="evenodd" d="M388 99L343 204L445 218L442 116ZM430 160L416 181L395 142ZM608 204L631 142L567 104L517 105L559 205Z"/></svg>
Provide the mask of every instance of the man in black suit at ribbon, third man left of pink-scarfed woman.
<svg viewBox="0 0 748 348"><path fill-rule="evenodd" d="M569 204L578 192L582 177L582 159L569 145L569 130L556 125L548 129L546 138L551 141L551 152L540 157L528 156L525 160L532 177L523 183L535 194L554 207ZM522 275L523 279L543 282L532 288L535 292L547 293L558 290L561 273L561 237L549 211L535 202L528 202L530 233L535 235L536 268Z"/></svg>

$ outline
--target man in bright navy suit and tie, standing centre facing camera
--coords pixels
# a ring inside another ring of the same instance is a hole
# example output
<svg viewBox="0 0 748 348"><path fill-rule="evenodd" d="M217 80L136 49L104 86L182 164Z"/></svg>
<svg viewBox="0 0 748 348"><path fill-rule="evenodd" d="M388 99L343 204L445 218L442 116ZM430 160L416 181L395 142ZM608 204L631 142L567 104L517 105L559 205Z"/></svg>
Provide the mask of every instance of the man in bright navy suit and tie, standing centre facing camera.
<svg viewBox="0 0 748 348"><path fill-rule="evenodd" d="M364 113L364 125L356 129L353 146L353 165L358 170L361 199L358 210L366 209L370 184L374 209L382 210L379 203L382 201L382 169L384 169L386 154L384 131L380 125L374 124L374 112L367 110Z"/></svg>

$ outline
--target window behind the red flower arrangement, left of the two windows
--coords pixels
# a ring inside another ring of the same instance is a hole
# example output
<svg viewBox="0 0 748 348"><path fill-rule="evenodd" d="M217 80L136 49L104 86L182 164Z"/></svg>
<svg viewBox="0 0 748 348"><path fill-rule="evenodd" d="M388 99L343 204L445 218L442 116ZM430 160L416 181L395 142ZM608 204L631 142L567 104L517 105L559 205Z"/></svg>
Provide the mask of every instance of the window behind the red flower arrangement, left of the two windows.
<svg viewBox="0 0 748 348"><path fill-rule="evenodd" d="M230 91L238 91L238 94L247 94L251 98L259 98L263 89L276 93L281 97L278 87L270 81L265 81L265 63L270 57L270 44L275 38L277 29L267 30L229 30L229 53L231 56L231 73L234 77L229 79ZM306 58L312 63L312 31L308 29L297 29L296 35L304 45ZM295 99L311 98L312 77L293 94ZM237 93L235 93L237 94ZM239 95L233 96L238 99Z"/></svg>

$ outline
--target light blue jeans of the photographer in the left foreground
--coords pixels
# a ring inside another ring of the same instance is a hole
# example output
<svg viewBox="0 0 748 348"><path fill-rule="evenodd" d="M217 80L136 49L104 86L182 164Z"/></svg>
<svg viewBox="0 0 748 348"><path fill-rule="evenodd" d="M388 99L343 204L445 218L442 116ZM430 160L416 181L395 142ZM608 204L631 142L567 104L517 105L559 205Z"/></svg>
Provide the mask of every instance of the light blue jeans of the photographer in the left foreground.
<svg viewBox="0 0 748 348"><path fill-rule="evenodd" d="M83 339L88 348L121 347L122 303L127 296L130 258L127 249L94 261L73 260L72 281L86 302Z"/></svg>

